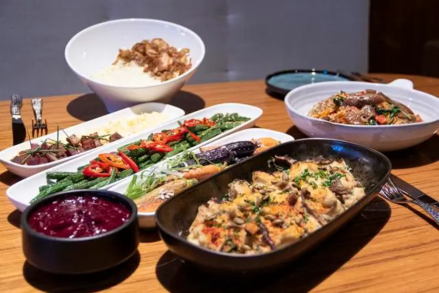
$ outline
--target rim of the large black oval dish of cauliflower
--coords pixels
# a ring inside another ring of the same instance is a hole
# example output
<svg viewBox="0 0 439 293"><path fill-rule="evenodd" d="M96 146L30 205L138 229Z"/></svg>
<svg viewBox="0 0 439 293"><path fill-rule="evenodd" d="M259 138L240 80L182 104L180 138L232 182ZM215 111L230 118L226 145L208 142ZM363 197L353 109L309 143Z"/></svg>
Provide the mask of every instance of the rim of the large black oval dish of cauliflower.
<svg viewBox="0 0 439 293"><path fill-rule="evenodd" d="M281 148L282 145L294 144L296 141L297 141L297 142L302 142L302 141L322 141L322 142L337 142L337 143L345 143L345 144L348 144L348 145L353 145L353 146L355 146L355 147L361 148L361 149L363 149L363 150L366 151L366 152L372 152L372 153L375 153L375 154L377 154L378 156L381 156L381 159L383 159L383 160L387 163L387 165L388 165L388 170L387 170L385 176L383 176L383 178L381 178L381 180L375 185L375 187L370 191L369 194L366 194L365 196L363 196L360 200L358 200L357 202L355 202L355 204L353 204L353 206L349 207L349 209L353 209L353 207L355 207L355 206L361 204L361 202L363 202L364 200L366 200L366 198L372 196L373 194L376 194L376 193L378 192L378 191L377 191L377 188L378 188L379 186L381 186L381 185L384 184L385 180L387 180L388 176L390 175L390 172L392 171L392 163L390 162L390 160L388 159L388 157L385 156L384 154L382 154L381 152L379 152L379 151L377 151L377 150L374 150L374 149L372 149L372 148L368 148L368 147L366 147L366 146L364 146L364 145L359 145L358 143L351 143L350 141L342 141L342 140L340 140L340 139L308 138L308 139L296 139L296 140L294 140L294 141L287 141L287 142L285 142L285 143L281 143L280 145L276 145L274 148L270 148L270 149L268 149L268 150L265 150L264 152L261 152L260 154L257 154L257 155L255 155L255 156L252 156L252 157L250 157L250 158L247 159L247 160L241 161L241 162L239 162L239 163L233 165L233 166L230 167L230 168L227 168L227 169L222 170L221 172L219 172L219 173L217 173L217 174L211 176L211 177L210 177L209 179L207 179L207 180L213 180L213 178L215 178L216 176L220 176L222 173L224 173L224 172L228 172L228 170L230 170L231 168L237 167L237 166L239 166L239 165L241 165L241 164L243 164L243 163L246 163L247 161L250 161L250 160L252 160L252 159L255 159L255 158L257 158L258 156L261 156L261 154L264 154L265 152L270 152L270 151L275 150L276 148ZM206 181L207 181L207 180L206 180ZM187 192L187 191L189 191L189 190L191 190L191 189L197 188L197 187L198 187L198 185L193 185L192 187L189 187L189 189L186 189L185 192ZM178 195L178 196L182 196L182 194L180 194L180 195ZM161 209L163 209L163 207L165 207L167 204L169 204L169 202L171 202L172 200L174 200L174 198L177 198L178 196L172 197L172 198L170 198L169 200L163 202L163 204L161 204L161 205L158 207L158 209L156 209L156 214L155 214L155 217L154 217L154 218L155 218L155 222L156 222L156 225L158 226L158 228L159 228L161 231L165 232L169 237L174 238L174 239L177 240L178 242L185 242L185 244L187 244L187 245L189 245L189 246L191 246L191 247L193 247L193 248L195 248L195 249L203 250L203 251L205 251L206 253L212 253L212 254L214 254L214 255L219 255L219 256L223 256L223 257L230 257L230 258L233 258L233 259L247 259L247 258L251 258L251 257L252 257L252 258L263 258L263 257L268 257L269 255L273 255L273 254L277 254L277 253L282 253L283 250L285 250L285 249L287 249L287 248L290 248L290 247L294 246L295 244L297 244L298 242L301 241L301 239L299 239L298 241L293 242L292 244L288 244L288 245L283 246L283 247L281 247L281 248L276 248L275 250L271 250L271 251L269 251L268 253L258 253L258 254L255 254L255 255L238 255L238 254L231 254L231 253L222 253L222 252L218 252L218 251L210 250L210 249L208 249L208 248L204 248L203 246L198 246L198 245L192 244L191 242L187 241L187 239L181 237L180 235L177 235L177 234L175 234L175 233L171 233L169 230L167 230L167 228L165 228L165 227L161 224L161 222L158 221L158 214L161 212ZM344 211L343 213L346 213L346 211ZM339 215L337 218L339 218L339 217L340 217L340 215ZM324 226L322 226L322 228L325 228L325 227L327 227L327 226L330 226L330 225L334 225L334 224L336 224L336 223L337 223L337 218L335 218L335 220L332 220L331 222L325 224ZM317 234L317 233L321 233L322 228L320 228L320 229L318 229L318 230L316 230L316 231L313 231L312 233L310 233L309 235L307 235L307 237L311 237L311 235L314 235L314 234Z"/></svg>

